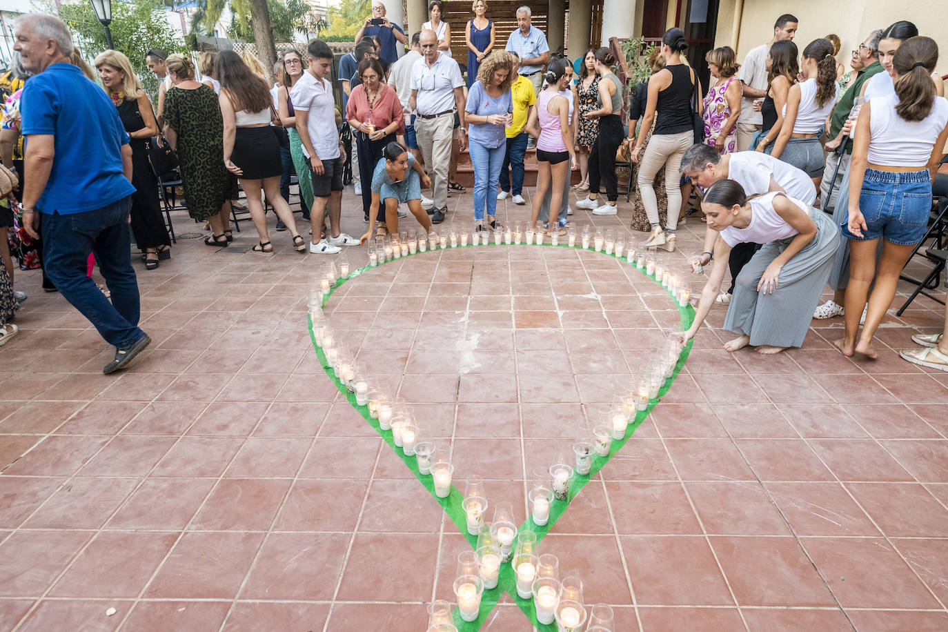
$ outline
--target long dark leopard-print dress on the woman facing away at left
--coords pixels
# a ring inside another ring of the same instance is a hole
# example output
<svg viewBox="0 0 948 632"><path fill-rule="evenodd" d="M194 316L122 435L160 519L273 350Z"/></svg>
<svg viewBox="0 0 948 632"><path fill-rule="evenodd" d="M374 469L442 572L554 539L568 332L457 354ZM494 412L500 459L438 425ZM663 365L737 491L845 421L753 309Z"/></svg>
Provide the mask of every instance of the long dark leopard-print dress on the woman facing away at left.
<svg viewBox="0 0 948 632"><path fill-rule="evenodd" d="M224 165L224 118L213 88L173 87L165 97L165 121L177 133L181 182L188 213L199 222L238 197L237 178Z"/></svg>

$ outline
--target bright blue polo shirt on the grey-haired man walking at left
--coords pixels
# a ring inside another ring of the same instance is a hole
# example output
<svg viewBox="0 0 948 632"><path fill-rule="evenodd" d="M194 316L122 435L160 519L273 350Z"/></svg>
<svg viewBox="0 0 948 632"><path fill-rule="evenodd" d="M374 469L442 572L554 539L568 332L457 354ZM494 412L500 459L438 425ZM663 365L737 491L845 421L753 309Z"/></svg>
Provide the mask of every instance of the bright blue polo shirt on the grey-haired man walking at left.
<svg viewBox="0 0 948 632"><path fill-rule="evenodd" d="M54 135L56 155L36 205L52 214L107 207L135 192L122 170L129 142L105 91L71 63L54 63L34 75L20 99L23 135Z"/></svg>

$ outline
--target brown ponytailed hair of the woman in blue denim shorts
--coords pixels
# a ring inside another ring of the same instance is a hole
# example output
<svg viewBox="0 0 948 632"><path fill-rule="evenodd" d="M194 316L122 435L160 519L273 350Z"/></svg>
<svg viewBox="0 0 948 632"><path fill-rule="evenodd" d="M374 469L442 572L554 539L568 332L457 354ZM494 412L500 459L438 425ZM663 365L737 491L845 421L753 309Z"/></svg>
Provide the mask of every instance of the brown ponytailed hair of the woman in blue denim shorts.
<svg viewBox="0 0 948 632"><path fill-rule="evenodd" d="M912 37L892 57L895 68L895 111L905 120L923 120L935 105L935 81L931 74L939 61L939 45L930 37Z"/></svg>

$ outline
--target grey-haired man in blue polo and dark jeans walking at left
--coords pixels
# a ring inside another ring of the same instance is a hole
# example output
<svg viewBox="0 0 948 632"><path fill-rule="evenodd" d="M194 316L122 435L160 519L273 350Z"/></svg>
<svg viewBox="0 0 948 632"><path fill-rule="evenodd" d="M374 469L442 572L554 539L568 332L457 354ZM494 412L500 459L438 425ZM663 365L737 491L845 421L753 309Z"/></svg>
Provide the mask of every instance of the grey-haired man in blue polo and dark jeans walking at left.
<svg viewBox="0 0 948 632"><path fill-rule="evenodd" d="M138 329L139 298L128 230L132 148L112 100L69 63L72 38L62 20L28 14L13 45L33 73L20 100L27 137L24 228L42 231L46 274L116 347L104 373L124 369L151 342ZM94 253L111 302L85 276Z"/></svg>

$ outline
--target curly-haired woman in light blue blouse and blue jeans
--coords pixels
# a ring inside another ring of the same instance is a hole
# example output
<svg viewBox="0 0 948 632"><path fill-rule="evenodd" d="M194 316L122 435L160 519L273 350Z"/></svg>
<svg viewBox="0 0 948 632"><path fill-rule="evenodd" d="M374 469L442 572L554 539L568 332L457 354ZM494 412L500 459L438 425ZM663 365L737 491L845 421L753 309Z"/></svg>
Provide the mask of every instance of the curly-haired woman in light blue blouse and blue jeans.
<svg viewBox="0 0 948 632"><path fill-rule="evenodd" d="M497 195L494 191L507 151L504 127L510 124L514 111L510 96L510 84L516 77L513 69L514 58L510 53L495 52L483 60L477 81L467 91L465 121L468 123L468 151L474 166L474 223L478 230L483 225L484 208L490 227L494 230L501 227L495 219Z"/></svg>

